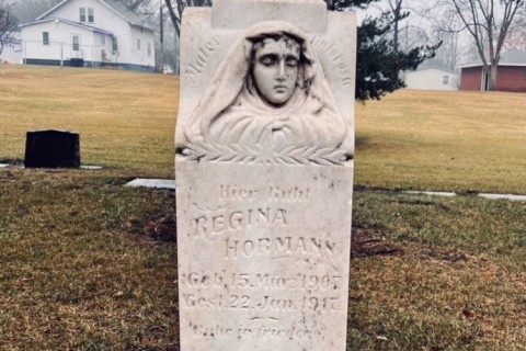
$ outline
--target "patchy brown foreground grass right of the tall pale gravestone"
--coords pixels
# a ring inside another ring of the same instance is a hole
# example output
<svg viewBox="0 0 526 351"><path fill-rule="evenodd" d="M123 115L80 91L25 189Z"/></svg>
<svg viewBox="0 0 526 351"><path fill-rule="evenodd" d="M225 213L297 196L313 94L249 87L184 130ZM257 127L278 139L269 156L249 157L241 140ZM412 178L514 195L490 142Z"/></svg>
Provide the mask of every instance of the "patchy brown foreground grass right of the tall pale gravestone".
<svg viewBox="0 0 526 351"><path fill-rule="evenodd" d="M351 261L348 350L525 350L525 217L524 203L357 192L355 250L379 250Z"/></svg>

